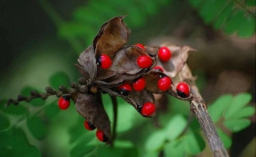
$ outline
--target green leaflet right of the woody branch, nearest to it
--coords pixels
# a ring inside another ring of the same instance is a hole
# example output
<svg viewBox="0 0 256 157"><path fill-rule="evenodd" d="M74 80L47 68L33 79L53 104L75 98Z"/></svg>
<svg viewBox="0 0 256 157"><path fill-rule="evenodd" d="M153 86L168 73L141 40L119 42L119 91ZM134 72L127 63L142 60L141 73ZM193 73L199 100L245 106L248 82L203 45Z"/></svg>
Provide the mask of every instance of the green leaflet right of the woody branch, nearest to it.
<svg viewBox="0 0 256 157"><path fill-rule="evenodd" d="M214 123L221 119L225 109L232 103L232 98L231 94L222 95L209 105L208 111Z"/></svg>

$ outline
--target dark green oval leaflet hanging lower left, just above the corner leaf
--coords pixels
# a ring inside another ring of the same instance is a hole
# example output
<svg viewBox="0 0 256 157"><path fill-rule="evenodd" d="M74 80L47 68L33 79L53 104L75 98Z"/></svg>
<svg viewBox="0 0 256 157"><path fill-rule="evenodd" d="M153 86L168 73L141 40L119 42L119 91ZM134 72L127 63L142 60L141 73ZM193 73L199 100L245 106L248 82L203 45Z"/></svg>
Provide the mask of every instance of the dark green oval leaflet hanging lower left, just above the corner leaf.
<svg viewBox="0 0 256 157"><path fill-rule="evenodd" d="M30 117L27 120L28 128L31 132L31 134L37 139L37 140L44 140L46 138L47 129L42 121L42 119L38 116Z"/></svg>

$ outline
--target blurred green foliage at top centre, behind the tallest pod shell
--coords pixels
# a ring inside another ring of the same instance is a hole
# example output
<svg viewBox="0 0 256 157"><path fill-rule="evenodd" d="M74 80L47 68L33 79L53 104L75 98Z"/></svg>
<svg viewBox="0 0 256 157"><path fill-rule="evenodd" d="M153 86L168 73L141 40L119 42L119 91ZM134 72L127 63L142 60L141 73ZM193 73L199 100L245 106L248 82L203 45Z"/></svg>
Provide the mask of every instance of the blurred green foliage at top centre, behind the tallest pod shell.
<svg viewBox="0 0 256 157"><path fill-rule="evenodd" d="M72 20L63 22L58 28L58 35L63 39L79 38L84 45L91 45L93 38L99 31L102 23L120 15L129 15L125 23L129 28L142 28L146 19L155 15L171 0L161 1L88 1L85 6L74 10ZM84 46L86 47L86 46ZM78 51L80 54L80 51Z"/></svg>

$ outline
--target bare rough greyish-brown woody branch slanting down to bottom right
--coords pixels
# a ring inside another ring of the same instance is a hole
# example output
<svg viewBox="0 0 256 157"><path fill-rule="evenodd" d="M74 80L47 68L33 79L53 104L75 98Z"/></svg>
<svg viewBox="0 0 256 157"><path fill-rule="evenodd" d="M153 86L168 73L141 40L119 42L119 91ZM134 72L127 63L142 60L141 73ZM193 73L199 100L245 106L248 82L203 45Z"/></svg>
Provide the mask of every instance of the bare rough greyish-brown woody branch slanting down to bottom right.
<svg viewBox="0 0 256 157"><path fill-rule="evenodd" d="M196 86L196 78L192 75L187 65L178 74L178 79L190 85L190 92L193 94L193 99L190 100L190 111L198 119L212 153L214 156L229 156L208 113L207 104L204 102Z"/></svg>

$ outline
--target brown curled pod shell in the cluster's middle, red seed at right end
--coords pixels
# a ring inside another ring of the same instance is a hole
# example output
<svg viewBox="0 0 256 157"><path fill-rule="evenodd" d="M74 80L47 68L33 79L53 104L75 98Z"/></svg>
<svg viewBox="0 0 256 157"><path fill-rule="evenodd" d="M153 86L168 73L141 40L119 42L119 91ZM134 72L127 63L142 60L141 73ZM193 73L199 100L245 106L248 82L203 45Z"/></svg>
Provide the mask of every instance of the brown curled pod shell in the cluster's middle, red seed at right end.
<svg viewBox="0 0 256 157"><path fill-rule="evenodd" d="M118 84L124 80L133 80L140 75L150 72L156 65L155 56L150 56L152 59L151 67L143 69L137 64L137 59L141 55L150 56L145 50L137 46L128 46L121 49L116 53L111 67L97 74L95 84Z"/></svg>

